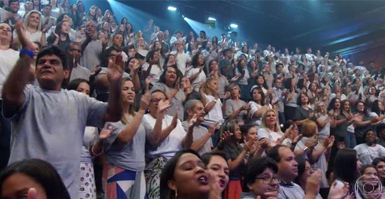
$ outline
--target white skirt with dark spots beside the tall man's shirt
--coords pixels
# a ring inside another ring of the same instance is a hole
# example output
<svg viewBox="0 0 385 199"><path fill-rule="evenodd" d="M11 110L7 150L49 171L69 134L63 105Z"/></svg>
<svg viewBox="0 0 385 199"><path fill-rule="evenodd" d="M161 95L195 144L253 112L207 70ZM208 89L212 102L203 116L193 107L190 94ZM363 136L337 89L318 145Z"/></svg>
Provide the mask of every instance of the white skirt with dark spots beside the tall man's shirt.
<svg viewBox="0 0 385 199"><path fill-rule="evenodd" d="M96 198L96 186L93 163L80 163L80 184L78 195L80 199Z"/></svg>

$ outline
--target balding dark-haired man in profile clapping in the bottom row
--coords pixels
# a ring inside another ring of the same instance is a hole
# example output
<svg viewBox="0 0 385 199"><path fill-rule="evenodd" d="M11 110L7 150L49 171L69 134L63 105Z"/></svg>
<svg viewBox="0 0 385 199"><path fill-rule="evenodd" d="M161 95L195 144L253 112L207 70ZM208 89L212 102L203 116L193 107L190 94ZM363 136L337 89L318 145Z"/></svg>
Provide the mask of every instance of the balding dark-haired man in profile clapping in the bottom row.
<svg viewBox="0 0 385 199"><path fill-rule="evenodd" d="M298 163L295 161L294 153L284 145L273 146L267 156L277 162L277 176L281 180L278 192L280 199L316 198L319 192L319 174L314 172L306 181L305 192L301 186L294 183L294 178L298 175Z"/></svg>

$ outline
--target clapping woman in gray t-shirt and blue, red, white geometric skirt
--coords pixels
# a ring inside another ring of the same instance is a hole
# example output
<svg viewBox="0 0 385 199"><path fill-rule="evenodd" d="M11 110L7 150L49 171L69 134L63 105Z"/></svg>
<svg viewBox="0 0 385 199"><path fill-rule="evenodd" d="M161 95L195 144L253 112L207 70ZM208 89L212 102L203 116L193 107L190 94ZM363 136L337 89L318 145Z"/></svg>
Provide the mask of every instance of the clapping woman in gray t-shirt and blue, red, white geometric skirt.
<svg viewBox="0 0 385 199"><path fill-rule="evenodd" d="M141 96L139 110L135 112L134 85L127 77L121 82L123 117L120 121L106 124L107 129L111 129L111 136L103 141L106 157L103 188L107 198L122 197L116 192L118 188L123 189L127 198L144 198L146 131L141 121L150 102L150 93ZM122 187L118 184L127 186Z"/></svg>

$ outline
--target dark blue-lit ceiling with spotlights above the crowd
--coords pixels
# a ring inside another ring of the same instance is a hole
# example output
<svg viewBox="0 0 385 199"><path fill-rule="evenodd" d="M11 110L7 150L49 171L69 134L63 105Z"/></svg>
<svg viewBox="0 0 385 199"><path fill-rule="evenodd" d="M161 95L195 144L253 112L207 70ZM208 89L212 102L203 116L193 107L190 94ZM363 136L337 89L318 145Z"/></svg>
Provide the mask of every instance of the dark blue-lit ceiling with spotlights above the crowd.
<svg viewBox="0 0 385 199"><path fill-rule="evenodd" d="M334 53L354 53L384 44L385 1L358 0L119 0L131 7L166 17L174 5L180 14L205 22L239 24L249 42L313 46ZM263 46L261 46L263 47Z"/></svg>

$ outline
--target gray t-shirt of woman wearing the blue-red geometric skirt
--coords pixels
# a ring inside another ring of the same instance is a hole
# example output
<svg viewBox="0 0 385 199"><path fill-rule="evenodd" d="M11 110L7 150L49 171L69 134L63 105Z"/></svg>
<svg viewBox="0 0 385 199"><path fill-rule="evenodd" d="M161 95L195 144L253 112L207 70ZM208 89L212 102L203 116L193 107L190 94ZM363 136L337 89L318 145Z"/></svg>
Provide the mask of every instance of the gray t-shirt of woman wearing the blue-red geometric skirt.
<svg viewBox="0 0 385 199"><path fill-rule="evenodd" d="M120 145L116 142L118 135L126 127L121 121L109 122L115 128L111 135L103 141L103 147L106 154L106 161L109 164L118 166L132 171L144 170L144 149L146 142L146 131L143 124L139 125L132 140L125 144Z"/></svg>

